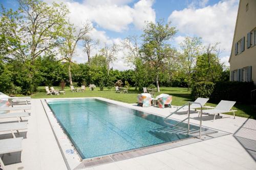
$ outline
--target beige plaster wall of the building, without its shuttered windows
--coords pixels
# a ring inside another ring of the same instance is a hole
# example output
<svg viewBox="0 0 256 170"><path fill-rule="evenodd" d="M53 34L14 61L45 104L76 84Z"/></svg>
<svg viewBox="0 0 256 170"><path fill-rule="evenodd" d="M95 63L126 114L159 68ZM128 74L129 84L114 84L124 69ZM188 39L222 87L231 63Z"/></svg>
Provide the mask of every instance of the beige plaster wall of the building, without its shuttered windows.
<svg viewBox="0 0 256 170"><path fill-rule="evenodd" d="M246 5L248 11L246 12ZM243 67L251 67L251 78L256 83L256 45L247 48L247 33L256 28L256 0L241 0L237 18L237 26L234 33L230 58L230 81L232 70L241 69ZM244 51L235 55L235 44L245 37Z"/></svg>

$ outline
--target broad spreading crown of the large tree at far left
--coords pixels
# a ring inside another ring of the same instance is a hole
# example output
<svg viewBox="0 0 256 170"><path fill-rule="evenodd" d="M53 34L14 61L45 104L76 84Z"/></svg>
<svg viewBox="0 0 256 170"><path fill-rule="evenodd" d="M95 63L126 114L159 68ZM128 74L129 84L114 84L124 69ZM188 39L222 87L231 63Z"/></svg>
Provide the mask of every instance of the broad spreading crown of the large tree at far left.
<svg viewBox="0 0 256 170"><path fill-rule="evenodd" d="M35 59L61 44L61 29L68 10L38 0L19 0L17 11L1 9L1 32L10 43L9 55L25 61Z"/></svg>

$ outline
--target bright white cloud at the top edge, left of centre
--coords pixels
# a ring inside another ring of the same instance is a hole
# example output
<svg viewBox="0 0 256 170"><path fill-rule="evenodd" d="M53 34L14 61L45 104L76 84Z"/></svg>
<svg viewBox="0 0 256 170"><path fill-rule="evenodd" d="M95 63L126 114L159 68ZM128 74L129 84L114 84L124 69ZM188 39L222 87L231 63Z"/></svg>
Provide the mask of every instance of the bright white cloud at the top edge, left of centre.
<svg viewBox="0 0 256 170"><path fill-rule="evenodd" d="M51 1L51 0L47 0ZM122 32L133 25L137 29L142 29L144 21L155 21L156 13L152 9L153 0L140 0L134 4L134 8L126 5L131 1L108 0L84 1L82 4L77 2L66 2L70 10L70 20L76 25L81 21L89 19L103 29Z"/></svg>

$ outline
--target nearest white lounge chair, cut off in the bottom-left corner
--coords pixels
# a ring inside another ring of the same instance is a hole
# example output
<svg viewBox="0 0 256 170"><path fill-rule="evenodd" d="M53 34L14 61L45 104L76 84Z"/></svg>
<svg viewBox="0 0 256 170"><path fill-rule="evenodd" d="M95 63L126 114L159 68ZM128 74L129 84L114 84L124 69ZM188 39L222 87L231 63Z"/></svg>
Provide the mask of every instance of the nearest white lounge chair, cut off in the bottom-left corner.
<svg viewBox="0 0 256 170"><path fill-rule="evenodd" d="M0 154L8 154L22 151L22 137L0 140ZM0 157L1 168L5 170L4 162Z"/></svg>

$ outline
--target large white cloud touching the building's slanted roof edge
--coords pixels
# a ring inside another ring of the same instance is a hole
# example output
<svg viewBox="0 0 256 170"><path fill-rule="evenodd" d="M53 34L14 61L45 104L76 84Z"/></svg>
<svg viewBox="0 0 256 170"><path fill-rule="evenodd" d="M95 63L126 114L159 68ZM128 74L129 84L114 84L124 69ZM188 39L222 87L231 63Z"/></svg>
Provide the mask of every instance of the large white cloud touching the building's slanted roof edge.
<svg viewBox="0 0 256 170"><path fill-rule="evenodd" d="M181 34L200 36L204 44L220 42L221 50L230 53L237 11L238 1L228 0L200 9L173 11L168 20Z"/></svg>

